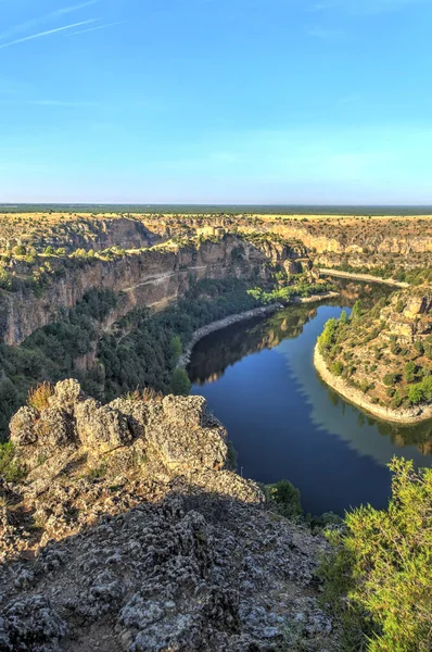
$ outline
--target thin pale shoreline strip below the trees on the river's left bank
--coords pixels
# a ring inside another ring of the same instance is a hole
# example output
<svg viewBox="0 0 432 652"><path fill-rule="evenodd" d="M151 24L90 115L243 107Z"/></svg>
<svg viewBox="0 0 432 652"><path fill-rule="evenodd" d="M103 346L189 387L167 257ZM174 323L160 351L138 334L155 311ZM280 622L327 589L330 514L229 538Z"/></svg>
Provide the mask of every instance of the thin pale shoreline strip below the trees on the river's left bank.
<svg viewBox="0 0 432 652"><path fill-rule="evenodd" d="M289 305L298 303L316 303L317 301L323 301L325 299L334 299L335 297L339 297L339 292L326 292L325 294L313 294L312 297L293 297ZM186 368L188 366L193 347L207 335L211 335L216 330L221 330L223 328L231 326L231 324L237 324L238 322L252 319L253 317L264 317L268 314L282 310L283 308L287 306L282 305L282 303L271 303L270 305L263 305L261 308L247 310L242 313L229 315L228 317L225 317L225 319L212 322L211 324L199 328L194 331L191 341L180 355L177 363L177 368Z"/></svg>

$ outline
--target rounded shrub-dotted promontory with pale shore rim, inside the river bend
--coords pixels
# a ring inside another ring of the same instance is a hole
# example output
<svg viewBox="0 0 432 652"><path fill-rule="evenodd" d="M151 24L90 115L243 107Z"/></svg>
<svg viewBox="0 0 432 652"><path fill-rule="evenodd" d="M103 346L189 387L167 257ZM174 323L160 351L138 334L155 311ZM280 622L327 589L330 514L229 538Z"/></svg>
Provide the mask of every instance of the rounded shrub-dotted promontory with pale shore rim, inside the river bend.
<svg viewBox="0 0 432 652"><path fill-rule="evenodd" d="M345 398L407 424L431 418L431 361L429 286L398 290L351 319L330 321L315 355L323 379Z"/></svg>

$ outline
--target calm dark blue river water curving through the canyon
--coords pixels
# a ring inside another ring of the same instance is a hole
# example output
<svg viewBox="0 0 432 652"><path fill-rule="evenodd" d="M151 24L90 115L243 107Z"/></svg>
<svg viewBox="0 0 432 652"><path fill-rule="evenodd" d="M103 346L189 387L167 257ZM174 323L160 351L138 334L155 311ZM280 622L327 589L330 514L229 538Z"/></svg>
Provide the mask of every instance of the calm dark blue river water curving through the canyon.
<svg viewBox="0 0 432 652"><path fill-rule="evenodd" d="M290 479L313 514L343 514L368 502L384 507L393 455L432 465L432 422L410 428L378 422L317 376L317 337L357 296L214 333L196 344L188 368L192 393L204 396L227 427L244 477Z"/></svg>

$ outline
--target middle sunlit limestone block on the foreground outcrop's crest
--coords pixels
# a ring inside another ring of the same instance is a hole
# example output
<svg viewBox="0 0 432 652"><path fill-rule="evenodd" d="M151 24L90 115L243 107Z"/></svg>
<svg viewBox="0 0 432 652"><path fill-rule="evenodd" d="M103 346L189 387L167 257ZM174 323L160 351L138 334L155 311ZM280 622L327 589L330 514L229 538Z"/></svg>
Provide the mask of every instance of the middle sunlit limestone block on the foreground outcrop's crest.
<svg viewBox="0 0 432 652"><path fill-rule="evenodd" d="M127 418L109 405L88 399L75 405L76 429L86 448L110 450L132 439Z"/></svg>

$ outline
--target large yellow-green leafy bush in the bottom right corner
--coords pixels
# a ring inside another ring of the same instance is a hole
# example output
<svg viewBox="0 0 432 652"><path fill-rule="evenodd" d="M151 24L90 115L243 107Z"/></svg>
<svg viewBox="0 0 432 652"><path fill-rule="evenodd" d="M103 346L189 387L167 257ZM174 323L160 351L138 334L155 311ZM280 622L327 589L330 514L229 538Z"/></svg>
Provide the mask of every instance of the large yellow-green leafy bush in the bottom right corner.
<svg viewBox="0 0 432 652"><path fill-rule="evenodd" d="M330 532L323 600L341 617L344 650L429 652L432 642L432 469L394 459L385 511L359 507Z"/></svg>

